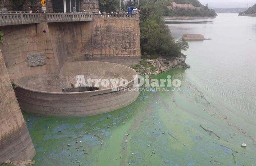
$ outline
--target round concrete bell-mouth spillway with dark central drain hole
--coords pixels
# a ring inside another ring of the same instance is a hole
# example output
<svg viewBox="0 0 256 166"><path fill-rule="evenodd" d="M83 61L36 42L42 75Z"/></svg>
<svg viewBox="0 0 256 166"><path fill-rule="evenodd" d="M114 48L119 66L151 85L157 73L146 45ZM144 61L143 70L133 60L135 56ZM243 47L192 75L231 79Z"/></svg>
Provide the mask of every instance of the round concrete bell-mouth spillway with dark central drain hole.
<svg viewBox="0 0 256 166"><path fill-rule="evenodd" d="M111 83L95 85L95 82L90 86L75 86L80 77L86 82L111 79L127 82L115 86ZM24 112L46 117L84 117L131 104L140 93L138 89L130 88L137 80L137 72L124 65L75 61L64 63L59 72L30 75L13 83Z"/></svg>

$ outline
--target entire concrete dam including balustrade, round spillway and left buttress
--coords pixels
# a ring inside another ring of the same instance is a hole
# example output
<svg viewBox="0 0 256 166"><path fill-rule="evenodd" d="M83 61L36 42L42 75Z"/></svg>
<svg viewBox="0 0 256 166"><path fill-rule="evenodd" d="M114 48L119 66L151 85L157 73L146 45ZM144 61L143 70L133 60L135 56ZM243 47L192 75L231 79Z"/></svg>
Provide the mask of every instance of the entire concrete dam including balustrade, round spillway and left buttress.
<svg viewBox="0 0 256 166"><path fill-rule="evenodd" d="M32 10L40 6L34 1ZM74 87L77 75L126 79L132 87L137 72L127 66L140 60L139 15L97 14L98 1L75 2L77 12L65 5L65 12L55 12L54 0L45 13L0 12L0 163L36 154L22 112L92 116L127 106L139 95L120 84Z"/></svg>

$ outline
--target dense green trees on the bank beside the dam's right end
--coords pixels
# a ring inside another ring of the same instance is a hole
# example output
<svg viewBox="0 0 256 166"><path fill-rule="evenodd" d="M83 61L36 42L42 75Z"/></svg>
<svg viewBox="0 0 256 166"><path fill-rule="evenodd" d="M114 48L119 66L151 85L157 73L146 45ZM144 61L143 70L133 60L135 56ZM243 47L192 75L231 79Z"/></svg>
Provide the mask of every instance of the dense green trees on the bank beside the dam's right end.
<svg viewBox="0 0 256 166"><path fill-rule="evenodd" d="M165 7L170 4L166 0L140 1L140 44L141 53L165 56L179 56L187 42L176 42L167 25L162 21Z"/></svg>

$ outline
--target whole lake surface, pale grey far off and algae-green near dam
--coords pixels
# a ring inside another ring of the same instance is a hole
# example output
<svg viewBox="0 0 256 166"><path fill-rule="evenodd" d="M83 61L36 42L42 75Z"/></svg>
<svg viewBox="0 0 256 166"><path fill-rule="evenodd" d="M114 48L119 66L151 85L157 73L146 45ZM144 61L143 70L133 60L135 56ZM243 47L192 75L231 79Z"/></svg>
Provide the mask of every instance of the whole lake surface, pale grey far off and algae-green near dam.
<svg viewBox="0 0 256 166"><path fill-rule="evenodd" d="M233 26L226 23L231 19ZM182 81L180 91L141 91L129 106L92 117L24 114L35 165L256 165L256 22L251 19L256 18L219 14L213 24L169 24L177 39L186 33L212 38L190 42L184 52L190 69L150 76L172 75ZM241 78L245 87L237 82Z"/></svg>

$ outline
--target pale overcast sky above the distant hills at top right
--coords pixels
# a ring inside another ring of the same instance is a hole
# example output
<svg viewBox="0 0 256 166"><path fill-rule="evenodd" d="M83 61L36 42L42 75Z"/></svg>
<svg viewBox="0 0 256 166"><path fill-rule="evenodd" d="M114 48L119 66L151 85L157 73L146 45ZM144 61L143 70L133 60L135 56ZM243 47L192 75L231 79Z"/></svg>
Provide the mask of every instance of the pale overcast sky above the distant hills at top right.
<svg viewBox="0 0 256 166"><path fill-rule="evenodd" d="M199 0L203 5L209 4L212 8L245 8L256 4L256 0Z"/></svg>

